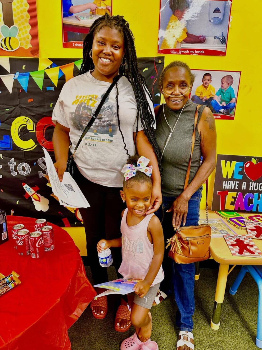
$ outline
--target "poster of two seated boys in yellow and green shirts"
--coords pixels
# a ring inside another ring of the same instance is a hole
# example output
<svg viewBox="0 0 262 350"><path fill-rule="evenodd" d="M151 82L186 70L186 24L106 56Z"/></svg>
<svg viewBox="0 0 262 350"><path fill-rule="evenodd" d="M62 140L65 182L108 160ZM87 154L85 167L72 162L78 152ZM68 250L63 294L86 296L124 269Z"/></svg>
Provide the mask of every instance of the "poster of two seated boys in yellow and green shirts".
<svg viewBox="0 0 262 350"><path fill-rule="evenodd" d="M234 120L238 99L239 71L191 69L195 82L190 99L208 106L215 119Z"/></svg>

